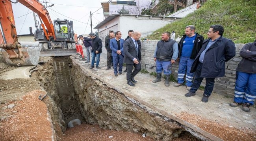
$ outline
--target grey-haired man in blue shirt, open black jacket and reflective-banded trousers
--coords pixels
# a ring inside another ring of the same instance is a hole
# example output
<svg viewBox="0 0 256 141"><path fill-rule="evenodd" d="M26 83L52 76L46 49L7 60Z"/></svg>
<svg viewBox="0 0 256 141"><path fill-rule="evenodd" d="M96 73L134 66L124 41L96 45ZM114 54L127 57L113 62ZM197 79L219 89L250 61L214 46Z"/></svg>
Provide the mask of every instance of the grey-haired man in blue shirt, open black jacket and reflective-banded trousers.
<svg viewBox="0 0 256 141"><path fill-rule="evenodd" d="M195 26L188 25L185 29L185 35L178 43L179 47L179 69L178 69L178 83L174 87L179 87L184 83L184 76L186 74L186 87L190 90L194 77L194 72L190 73L194 59L202 48L204 37L195 33ZM187 71L186 71L187 70Z"/></svg>

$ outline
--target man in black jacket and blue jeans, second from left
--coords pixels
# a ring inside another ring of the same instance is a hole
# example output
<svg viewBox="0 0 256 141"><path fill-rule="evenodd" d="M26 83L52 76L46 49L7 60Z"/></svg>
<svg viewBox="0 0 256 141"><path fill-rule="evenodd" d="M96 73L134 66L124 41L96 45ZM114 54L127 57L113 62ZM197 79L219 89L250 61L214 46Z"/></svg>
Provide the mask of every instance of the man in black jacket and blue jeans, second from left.
<svg viewBox="0 0 256 141"><path fill-rule="evenodd" d="M89 36L90 36L89 39L84 39L86 41L92 41L92 50L91 50L92 59L91 59L91 67L89 67L89 69L94 68L95 57L97 58L96 68L100 69L99 63L100 63L100 53L102 52L102 41L94 33L90 33Z"/></svg>

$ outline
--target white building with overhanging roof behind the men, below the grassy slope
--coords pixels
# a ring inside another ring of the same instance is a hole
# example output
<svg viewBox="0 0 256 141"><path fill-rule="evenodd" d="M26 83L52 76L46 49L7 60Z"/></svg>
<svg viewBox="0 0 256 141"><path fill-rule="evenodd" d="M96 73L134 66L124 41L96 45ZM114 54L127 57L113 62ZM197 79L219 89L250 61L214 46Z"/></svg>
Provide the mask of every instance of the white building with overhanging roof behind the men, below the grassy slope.
<svg viewBox="0 0 256 141"><path fill-rule="evenodd" d="M145 37L152 34L153 31L179 19L164 16L112 14L98 24L95 29L98 29L98 36L102 39L102 42L105 41L109 30L114 32L121 31L123 39L128 36L128 31L131 29L141 32L141 37Z"/></svg>

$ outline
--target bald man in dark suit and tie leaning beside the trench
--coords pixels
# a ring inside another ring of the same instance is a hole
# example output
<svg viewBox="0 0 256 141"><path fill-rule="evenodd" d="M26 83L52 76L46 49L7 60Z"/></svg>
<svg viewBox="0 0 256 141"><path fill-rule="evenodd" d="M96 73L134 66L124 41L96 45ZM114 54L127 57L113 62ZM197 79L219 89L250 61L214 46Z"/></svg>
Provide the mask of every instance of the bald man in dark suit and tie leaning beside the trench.
<svg viewBox="0 0 256 141"><path fill-rule="evenodd" d="M139 60L140 49L137 41L141 38L141 33L135 31L132 37L124 42L124 63L126 63L127 73L126 80L130 86L135 86L134 77L141 70L141 63ZM135 67L134 71L132 68Z"/></svg>

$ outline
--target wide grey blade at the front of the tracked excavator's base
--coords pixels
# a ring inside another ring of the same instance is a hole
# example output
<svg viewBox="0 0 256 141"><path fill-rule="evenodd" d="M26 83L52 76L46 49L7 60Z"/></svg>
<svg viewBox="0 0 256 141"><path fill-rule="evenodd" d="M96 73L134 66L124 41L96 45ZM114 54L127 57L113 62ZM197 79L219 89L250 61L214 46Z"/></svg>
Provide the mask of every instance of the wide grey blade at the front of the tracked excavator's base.
<svg viewBox="0 0 256 141"><path fill-rule="evenodd" d="M40 56L70 56L76 55L76 49L41 49Z"/></svg>

